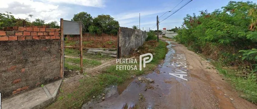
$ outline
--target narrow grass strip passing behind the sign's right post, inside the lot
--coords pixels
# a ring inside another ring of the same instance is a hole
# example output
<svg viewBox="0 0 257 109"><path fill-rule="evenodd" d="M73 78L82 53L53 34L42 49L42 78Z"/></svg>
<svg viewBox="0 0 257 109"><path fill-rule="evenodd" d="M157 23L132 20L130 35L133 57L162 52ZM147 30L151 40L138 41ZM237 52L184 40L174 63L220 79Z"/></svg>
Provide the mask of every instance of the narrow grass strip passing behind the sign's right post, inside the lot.
<svg viewBox="0 0 257 109"><path fill-rule="evenodd" d="M80 64L80 58L65 58L66 62L72 62L74 64ZM88 60L88 59L83 59L82 61L84 66L98 66L101 65L102 63L97 60Z"/></svg>

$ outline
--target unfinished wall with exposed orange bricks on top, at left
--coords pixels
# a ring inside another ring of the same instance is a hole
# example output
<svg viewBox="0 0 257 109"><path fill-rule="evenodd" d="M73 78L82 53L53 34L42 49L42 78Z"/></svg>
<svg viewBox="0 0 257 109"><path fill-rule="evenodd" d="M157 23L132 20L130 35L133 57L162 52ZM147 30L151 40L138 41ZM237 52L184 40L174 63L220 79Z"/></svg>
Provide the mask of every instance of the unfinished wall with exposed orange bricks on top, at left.
<svg viewBox="0 0 257 109"><path fill-rule="evenodd" d="M0 92L9 97L60 79L60 29L0 31Z"/></svg>

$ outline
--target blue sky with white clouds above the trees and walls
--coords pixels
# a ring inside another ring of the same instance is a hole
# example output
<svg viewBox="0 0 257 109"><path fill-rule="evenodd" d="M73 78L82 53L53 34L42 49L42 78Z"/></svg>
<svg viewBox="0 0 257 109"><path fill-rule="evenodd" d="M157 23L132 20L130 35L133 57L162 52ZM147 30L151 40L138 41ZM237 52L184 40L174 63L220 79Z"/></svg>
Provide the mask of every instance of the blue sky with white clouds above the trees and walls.
<svg viewBox="0 0 257 109"><path fill-rule="evenodd" d="M162 19L167 18L188 0L0 0L0 13L12 12L15 18L30 18L32 21L36 18L51 21L60 21L61 18L71 20L74 14L87 12L92 17L100 14L109 14L117 20L121 27L139 26L140 29L156 30L157 15ZM214 11L226 6L230 0L193 0L175 14L160 22L159 28L172 29L179 27L183 23L186 14L199 14L201 10ZM242 1L242 0L233 0ZM243 0L253 1L256 0ZM181 2L181 3L180 3ZM179 4L180 3L180 4ZM179 4L179 5L178 5ZM175 7L178 5L177 7ZM175 8L174 8L175 7ZM173 9L174 8L174 9ZM173 9L173 10L172 10Z"/></svg>

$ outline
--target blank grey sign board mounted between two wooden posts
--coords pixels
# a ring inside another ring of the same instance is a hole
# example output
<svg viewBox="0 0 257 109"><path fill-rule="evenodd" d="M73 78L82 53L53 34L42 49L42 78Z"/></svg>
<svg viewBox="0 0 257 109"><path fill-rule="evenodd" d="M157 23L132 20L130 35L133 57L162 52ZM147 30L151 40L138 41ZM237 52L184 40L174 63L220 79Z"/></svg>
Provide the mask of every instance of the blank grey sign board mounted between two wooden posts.
<svg viewBox="0 0 257 109"><path fill-rule="evenodd" d="M79 35L79 22L63 20L63 34L64 35Z"/></svg>

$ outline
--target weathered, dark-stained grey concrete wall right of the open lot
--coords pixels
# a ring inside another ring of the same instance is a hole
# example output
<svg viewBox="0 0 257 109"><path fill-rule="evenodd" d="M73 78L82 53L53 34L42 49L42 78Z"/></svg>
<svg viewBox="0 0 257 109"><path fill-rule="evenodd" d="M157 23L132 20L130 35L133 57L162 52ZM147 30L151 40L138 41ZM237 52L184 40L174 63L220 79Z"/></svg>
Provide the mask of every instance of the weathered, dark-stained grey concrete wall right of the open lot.
<svg viewBox="0 0 257 109"><path fill-rule="evenodd" d="M120 57L129 55L130 51L143 45L147 38L147 32L127 27L119 29L119 52Z"/></svg>

